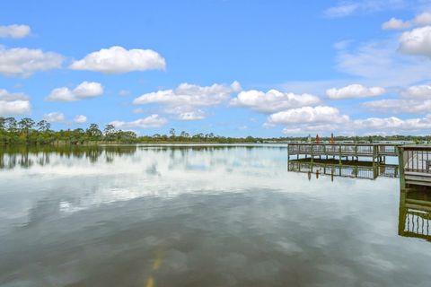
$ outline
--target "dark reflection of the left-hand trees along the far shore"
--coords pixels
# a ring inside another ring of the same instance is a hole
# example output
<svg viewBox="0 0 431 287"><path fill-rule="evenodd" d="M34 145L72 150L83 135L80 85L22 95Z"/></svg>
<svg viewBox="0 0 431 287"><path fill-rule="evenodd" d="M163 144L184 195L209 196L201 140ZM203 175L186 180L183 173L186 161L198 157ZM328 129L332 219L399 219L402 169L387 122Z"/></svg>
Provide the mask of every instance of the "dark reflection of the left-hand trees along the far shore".
<svg viewBox="0 0 431 287"><path fill-rule="evenodd" d="M11 170L16 166L31 168L34 164L46 166L55 155L66 159L88 159L95 163L104 159L107 163L122 155L136 152L135 145L115 146L7 146L0 148L0 169Z"/></svg>

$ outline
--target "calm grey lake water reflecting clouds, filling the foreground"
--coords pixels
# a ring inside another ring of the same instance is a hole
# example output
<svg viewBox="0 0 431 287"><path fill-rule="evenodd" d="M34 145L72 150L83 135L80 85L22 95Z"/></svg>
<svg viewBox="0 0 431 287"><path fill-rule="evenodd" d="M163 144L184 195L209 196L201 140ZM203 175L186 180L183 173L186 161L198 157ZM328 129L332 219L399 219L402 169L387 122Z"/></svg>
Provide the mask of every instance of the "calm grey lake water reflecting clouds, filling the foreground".
<svg viewBox="0 0 431 287"><path fill-rule="evenodd" d="M3 150L0 286L431 286L399 211L398 178L309 179L286 146Z"/></svg>

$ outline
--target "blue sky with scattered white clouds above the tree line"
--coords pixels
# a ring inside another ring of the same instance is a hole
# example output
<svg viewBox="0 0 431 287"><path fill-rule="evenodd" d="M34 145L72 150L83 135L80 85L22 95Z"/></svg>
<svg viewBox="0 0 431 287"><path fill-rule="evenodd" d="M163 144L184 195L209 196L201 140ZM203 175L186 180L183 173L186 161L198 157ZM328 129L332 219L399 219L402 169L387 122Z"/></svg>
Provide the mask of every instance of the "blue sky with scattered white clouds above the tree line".
<svg viewBox="0 0 431 287"><path fill-rule="evenodd" d="M430 8L15 0L0 9L0 116L140 135L427 135Z"/></svg>

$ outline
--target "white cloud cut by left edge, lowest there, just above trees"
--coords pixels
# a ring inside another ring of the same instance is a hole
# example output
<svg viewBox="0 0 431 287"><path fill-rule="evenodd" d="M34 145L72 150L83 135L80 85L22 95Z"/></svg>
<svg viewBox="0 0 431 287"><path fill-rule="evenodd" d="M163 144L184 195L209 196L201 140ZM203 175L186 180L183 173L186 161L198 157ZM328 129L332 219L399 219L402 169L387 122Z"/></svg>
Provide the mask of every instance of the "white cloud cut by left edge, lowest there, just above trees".
<svg viewBox="0 0 431 287"><path fill-rule="evenodd" d="M27 95L0 89L0 116L28 115L31 104Z"/></svg>

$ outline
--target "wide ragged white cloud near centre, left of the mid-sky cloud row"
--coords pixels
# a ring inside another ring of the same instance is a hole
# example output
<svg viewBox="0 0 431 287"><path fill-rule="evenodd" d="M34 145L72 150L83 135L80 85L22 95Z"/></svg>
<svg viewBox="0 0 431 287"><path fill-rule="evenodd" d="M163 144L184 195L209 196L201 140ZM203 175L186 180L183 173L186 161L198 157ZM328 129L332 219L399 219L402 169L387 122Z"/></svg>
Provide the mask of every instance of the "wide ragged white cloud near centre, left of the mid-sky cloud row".
<svg viewBox="0 0 431 287"><path fill-rule="evenodd" d="M164 112L177 116L180 120L195 120L205 117L201 107L216 106L228 100L231 93L240 91L241 85L215 83L211 86L181 83L175 90L145 93L133 100L134 105L161 104Z"/></svg>

